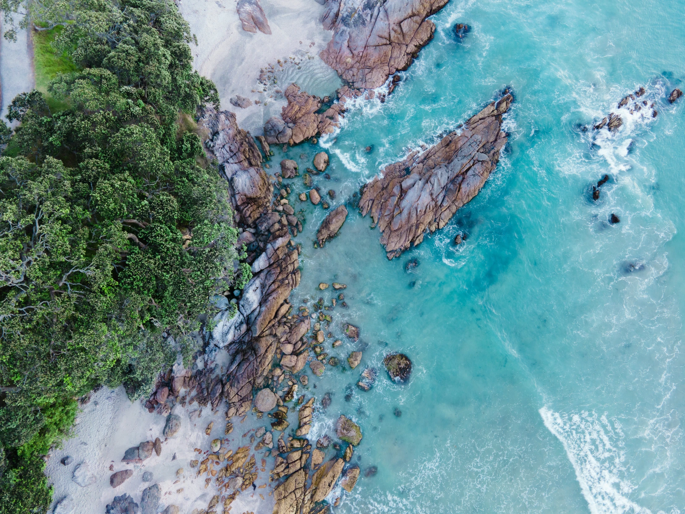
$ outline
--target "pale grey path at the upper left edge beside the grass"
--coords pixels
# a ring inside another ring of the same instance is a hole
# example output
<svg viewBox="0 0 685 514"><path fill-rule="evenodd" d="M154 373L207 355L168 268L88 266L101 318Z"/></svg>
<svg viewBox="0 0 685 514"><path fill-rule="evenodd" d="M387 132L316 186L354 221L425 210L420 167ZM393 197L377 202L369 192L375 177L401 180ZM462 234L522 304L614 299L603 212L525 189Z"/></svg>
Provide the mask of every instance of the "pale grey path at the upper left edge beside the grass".
<svg viewBox="0 0 685 514"><path fill-rule="evenodd" d="M0 24L0 117L7 123L7 106L19 93L36 86L30 34L18 29L16 42L2 37Z"/></svg>

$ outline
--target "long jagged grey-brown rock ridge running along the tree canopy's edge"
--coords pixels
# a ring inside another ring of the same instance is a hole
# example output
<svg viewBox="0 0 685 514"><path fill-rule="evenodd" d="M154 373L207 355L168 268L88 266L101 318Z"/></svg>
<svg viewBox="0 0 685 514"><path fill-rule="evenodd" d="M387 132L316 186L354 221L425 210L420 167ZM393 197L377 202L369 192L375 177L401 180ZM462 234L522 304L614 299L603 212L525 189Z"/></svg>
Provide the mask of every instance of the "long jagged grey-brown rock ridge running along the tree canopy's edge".
<svg viewBox="0 0 685 514"><path fill-rule="evenodd" d="M292 246L286 216L272 210L273 184L262 169L262 156L248 132L240 130L232 112L207 109L199 125L207 130L208 156L230 184L232 204L238 212L240 240L250 241L248 262L253 278L242 290L238 309L216 316L211 341L227 350L231 361L221 382L206 387L214 406L223 391L228 401L226 417L242 415L252 402L253 387L260 387L282 348L282 367L299 371L306 363L302 337L310 320L288 320L288 296L299 284L297 249ZM249 235L249 237L248 237ZM240 241L239 240L239 241ZM213 383L213 382L212 382Z"/></svg>

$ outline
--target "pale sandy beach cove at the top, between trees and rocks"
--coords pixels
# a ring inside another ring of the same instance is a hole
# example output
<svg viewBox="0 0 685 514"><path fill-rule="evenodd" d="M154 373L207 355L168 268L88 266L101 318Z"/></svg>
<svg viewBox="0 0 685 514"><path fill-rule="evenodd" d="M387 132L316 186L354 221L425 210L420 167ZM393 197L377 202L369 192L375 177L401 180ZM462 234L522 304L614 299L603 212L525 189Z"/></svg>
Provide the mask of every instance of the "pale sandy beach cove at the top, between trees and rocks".
<svg viewBox="0 0 685 514"><path fill-rule="evenodd" d="M338 75L319 58L319 51L332 35L319 22L323 5L314 0L260 0L271 27L271 34L267 35L242 29L237 3L183 0L179 9L197 37L198 46L191 46L195 69L214 81L222 108L236 112L240 127L259 135L263 133L264 122L280 114L286 104L277 90L297 82L309 93L327 95L341 83ZM291 56L295 59L288 60ZM279 66L278 60L288 62ZM260 69L269 64L277 69L278 80L264 88L258 84ZM229 99L235 95L261 103L245 109L234 107Z"/></svg>

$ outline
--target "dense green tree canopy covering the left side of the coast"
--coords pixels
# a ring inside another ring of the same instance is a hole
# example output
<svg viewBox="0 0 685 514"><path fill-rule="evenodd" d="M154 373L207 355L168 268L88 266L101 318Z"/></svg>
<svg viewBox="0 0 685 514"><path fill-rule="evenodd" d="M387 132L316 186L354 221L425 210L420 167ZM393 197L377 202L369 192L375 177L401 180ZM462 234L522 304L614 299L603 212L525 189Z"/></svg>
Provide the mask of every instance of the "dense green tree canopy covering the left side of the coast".
<svg viewBox="0 0 685 514"><path fill-rule="evenodd" d="M211 319L210 297L251 278L227 184L198 164L188 118L218 96L192 71L174 3L27 8L61 25L42 32L50 96L12 101L20 125L0 157L2 514L45 511L38 456L68 434L75 397L99 384L148 393L179 352L188 364L199 349L191 334Z"/></svg>

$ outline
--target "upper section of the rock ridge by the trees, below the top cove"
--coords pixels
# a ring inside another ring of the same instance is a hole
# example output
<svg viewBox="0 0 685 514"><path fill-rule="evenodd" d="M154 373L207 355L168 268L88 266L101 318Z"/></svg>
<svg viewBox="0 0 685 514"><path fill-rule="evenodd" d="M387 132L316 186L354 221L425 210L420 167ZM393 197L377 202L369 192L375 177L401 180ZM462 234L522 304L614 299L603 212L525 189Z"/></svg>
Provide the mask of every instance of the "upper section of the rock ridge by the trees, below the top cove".
<svg viewBox="0 0 685 514"><path fill-rule="evenodd" d="M235 221L252 225L271 210L273 185L262 169L262 154L249 132L238 127L233 112L207 107L199 114L207 156L216 159L228 181Z"/></svg>

